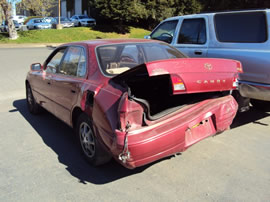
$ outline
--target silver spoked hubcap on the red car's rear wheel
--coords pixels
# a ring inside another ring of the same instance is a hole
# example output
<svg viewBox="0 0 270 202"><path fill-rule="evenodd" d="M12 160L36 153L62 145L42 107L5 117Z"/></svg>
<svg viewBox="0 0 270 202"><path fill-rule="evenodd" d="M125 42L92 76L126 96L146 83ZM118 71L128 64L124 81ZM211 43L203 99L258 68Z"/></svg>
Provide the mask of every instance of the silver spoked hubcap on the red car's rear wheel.
<svg viewBox="0 0 270 202"><path fill-rule="evenodd" d="M80 142L86 156L93 158L95 155L95 141L91 127L83 122L80 125Z"/></svg>

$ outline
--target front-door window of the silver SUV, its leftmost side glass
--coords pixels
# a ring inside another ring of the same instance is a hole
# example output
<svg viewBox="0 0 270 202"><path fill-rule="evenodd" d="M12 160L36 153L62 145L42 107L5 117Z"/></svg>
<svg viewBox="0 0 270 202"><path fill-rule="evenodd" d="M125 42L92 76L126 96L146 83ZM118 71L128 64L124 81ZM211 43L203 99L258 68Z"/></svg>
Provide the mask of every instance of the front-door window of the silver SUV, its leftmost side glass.
<svg viewBox="0 0 270 202"><path fill-rule="evenodd" d="M152 39L157 39L171 43L177 26L178 20L166 21L151 34Z"/></svg>

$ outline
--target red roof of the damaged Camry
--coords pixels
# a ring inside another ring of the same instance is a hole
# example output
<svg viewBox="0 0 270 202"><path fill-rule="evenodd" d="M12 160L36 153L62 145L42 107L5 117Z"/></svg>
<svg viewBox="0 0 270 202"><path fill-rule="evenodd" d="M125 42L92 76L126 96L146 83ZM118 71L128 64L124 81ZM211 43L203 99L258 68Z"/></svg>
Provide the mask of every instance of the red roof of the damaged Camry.
<svg viewBox="0 0 270 202"><path fill-rule="evenodd" d="M124 44L124 43L163 43L163 42L149 39L97 39L89 41L72 42L63 44L62 46L85 44L87 46L96 47L101 45Z"/></svg>

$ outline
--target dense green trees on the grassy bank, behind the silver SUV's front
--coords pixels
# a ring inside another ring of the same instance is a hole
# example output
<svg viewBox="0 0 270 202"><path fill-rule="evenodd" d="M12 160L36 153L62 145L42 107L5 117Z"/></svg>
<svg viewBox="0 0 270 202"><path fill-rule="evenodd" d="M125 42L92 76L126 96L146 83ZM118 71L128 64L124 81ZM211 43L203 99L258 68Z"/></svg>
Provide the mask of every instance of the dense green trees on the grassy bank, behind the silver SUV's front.
<svg viewBox="0 0 270 202"><path fill-rule="evenodd" d="M138 24L152 28L168 17L196 13L201 10L198 0L90 0L96 16L106 22Z"/></svg>

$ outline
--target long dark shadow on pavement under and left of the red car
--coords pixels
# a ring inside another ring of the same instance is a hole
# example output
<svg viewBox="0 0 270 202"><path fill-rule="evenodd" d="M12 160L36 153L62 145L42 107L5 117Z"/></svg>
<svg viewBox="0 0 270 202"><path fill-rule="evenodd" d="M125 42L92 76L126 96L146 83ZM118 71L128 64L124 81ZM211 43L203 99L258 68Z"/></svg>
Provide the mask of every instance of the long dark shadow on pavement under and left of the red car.
<svg viewBox="0 0 270 202"><path fill-rule="evenodd" d="M41 136L44 143L58 155L59 162L66 165L66 169L71 175L78 178L80 183L105 184L138 174L153 165L129 170L112 160L106 165L92 167L80 153L73 131L69 126L48 112L38 116L30 114L25 99L14 101L13 106L16 109L10 110L10 112L19 111L22 114Z"/></svg>

